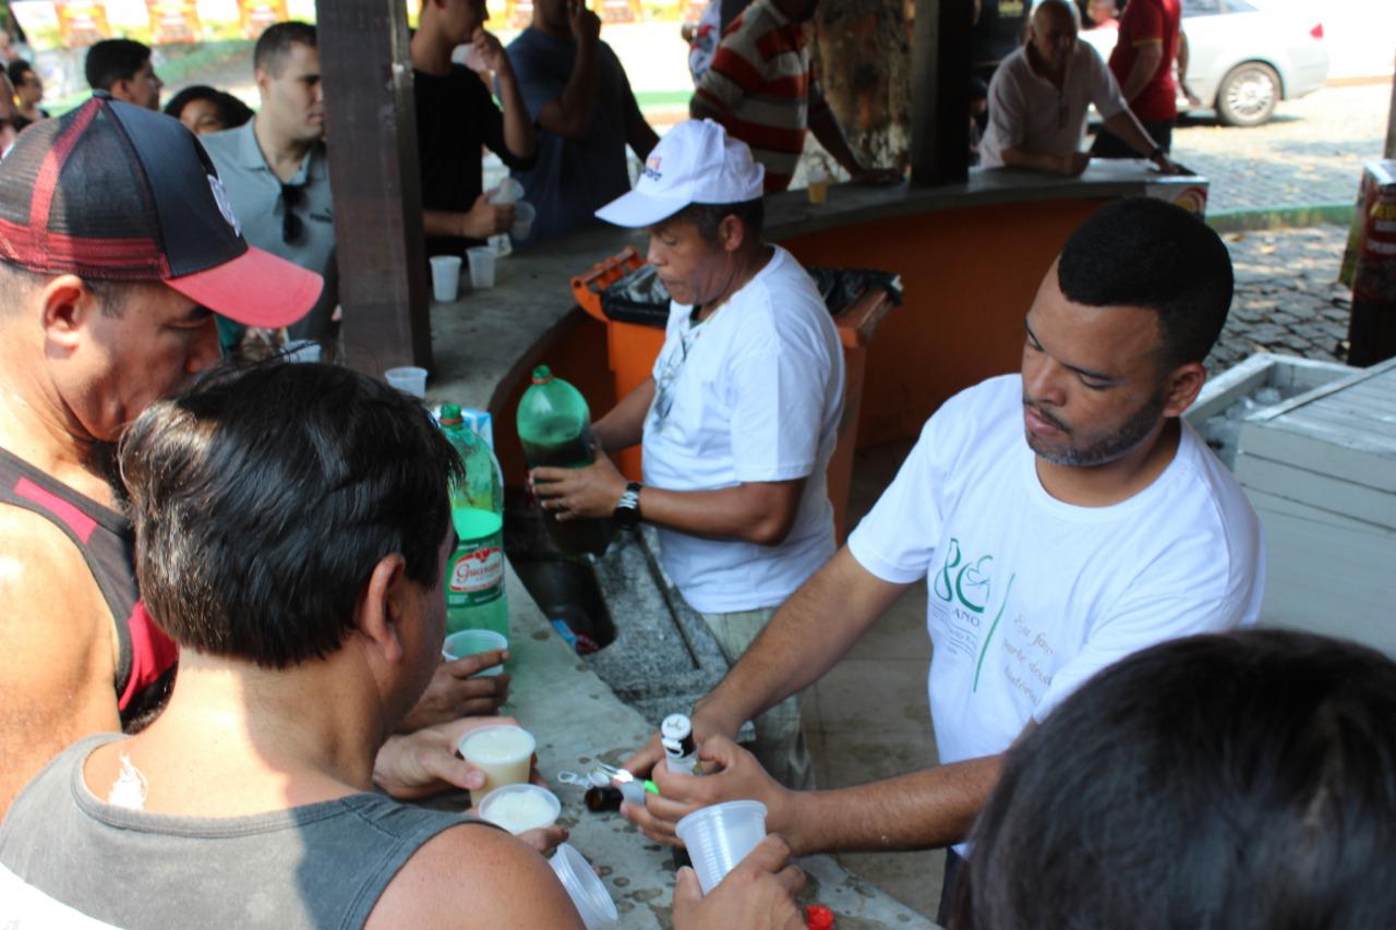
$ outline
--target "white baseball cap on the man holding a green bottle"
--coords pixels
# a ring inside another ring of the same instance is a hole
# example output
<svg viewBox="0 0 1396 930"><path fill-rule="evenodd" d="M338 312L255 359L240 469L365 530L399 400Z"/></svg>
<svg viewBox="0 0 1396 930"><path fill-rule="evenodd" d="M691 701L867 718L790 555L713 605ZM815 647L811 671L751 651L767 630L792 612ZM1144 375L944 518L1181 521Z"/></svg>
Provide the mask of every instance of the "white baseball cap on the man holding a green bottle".
<svg viewBox="0 0 1396 930"><path fill-rule="evenodd" d="M758 200L766 170L745 142L712 120L688 120L669 130L645 159L635 190L596 211L617 226L652 226L688 204Z"/></svg>

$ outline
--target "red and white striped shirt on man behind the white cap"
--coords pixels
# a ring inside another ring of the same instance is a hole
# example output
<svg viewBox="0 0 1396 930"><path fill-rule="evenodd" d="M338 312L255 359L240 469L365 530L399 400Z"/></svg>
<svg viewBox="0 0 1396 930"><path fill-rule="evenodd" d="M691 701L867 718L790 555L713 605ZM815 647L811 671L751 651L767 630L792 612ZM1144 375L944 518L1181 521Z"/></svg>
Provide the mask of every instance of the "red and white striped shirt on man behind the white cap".
<svg viewBox="0 0 1396 930"><path fill-rule="evenodd" d="M810 115L826 106L810 73L804 29L773 0L755 0L723 32L691 109L751 147L766 168L769 194L790 186Z"/></svg>

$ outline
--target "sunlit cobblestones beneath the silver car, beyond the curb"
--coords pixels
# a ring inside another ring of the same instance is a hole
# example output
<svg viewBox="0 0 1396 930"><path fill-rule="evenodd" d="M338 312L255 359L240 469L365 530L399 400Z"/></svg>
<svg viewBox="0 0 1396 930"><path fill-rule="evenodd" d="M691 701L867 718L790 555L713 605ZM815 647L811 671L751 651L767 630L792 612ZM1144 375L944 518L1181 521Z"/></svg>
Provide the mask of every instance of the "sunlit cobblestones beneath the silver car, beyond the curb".
<svg viewBox="0 0 1396 930"><path fill-rule="evenodd" d="M1362 163L1381 158L1390 95L1389 82L1325 87L1282 102L1255 128L1187 119L1173 133L1173 156L1212 182L1209 214L1350 204Z"/></svg>

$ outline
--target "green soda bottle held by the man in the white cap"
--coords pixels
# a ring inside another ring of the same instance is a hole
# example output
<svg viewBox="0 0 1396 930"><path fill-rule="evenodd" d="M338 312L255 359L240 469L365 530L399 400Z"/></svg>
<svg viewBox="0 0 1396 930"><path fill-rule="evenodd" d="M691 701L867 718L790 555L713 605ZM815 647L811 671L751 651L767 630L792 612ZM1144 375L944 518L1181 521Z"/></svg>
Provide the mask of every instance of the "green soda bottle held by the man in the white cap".
<svg viewBox="0 0 1396 930"><path fill-rule="evenodd" d="M592 437L592 412L582 392L546 364L533 369L533 384L524 391L518 411L519 441L529 469L586 468L596 461ZM553 511L543 511L553 545L568 554L602 554L614 526L610 518L567 519L558 522Z"/></svg>

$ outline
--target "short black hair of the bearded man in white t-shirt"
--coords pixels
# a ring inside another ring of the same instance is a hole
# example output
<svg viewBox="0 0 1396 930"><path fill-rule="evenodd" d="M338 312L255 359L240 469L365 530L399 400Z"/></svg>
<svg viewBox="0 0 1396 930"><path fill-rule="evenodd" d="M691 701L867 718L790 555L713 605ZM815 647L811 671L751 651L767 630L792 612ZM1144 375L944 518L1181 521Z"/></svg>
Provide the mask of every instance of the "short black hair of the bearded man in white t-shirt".
<svg viewBox="0 0 1396 930"><path fill-rule="evenodd" d="M1057 283L1072 303L1159 314L1167 366L1206 359L1231 306L1231 256L1195 215L1146 197L1099 209L1061 250Z"/></svg>

